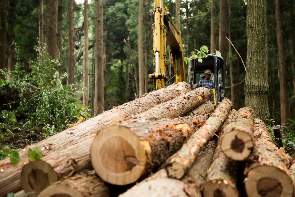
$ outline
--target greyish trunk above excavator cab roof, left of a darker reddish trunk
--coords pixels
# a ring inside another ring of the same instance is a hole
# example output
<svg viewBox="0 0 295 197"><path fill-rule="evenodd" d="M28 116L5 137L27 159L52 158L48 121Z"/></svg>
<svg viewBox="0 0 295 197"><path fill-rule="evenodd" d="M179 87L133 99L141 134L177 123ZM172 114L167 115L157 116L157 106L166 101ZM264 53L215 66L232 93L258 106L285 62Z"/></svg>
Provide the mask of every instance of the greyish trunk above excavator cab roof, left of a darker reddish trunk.
<svg viewBox="0 0 295 197"><path fill-rule="evenodd" d="M211 0L211 36L210 53L215 53L217 38L217 0Z"/></svg>

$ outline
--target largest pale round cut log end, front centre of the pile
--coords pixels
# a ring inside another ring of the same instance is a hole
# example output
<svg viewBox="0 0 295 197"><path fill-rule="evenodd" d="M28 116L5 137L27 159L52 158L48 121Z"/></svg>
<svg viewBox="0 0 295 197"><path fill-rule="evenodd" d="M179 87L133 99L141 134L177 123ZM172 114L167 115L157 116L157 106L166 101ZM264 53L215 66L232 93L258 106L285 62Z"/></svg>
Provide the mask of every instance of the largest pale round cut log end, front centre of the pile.
<svg viewBox="0 0 295 197"><path fill-rule="evenodd" d="M145 171L148 144L141 143L127 127L112 126L99 132L91 145L91 162L106 182L126 185Z"/></svg>

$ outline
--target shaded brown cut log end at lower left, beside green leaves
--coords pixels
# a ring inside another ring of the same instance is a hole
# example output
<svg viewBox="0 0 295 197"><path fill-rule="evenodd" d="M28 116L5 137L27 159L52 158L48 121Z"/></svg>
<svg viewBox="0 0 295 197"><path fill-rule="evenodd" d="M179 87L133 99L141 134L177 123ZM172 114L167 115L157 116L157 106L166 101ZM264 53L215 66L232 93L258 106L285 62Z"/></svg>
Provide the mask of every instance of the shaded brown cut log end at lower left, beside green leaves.
<svg viewBox="0 0 295 197"><path fill-rule="evenodd" d="M57 181L53 168L42 160L30 162L22 168L22 188L25 192L34 192L29 196L37 196L39 192Z"/></svg>

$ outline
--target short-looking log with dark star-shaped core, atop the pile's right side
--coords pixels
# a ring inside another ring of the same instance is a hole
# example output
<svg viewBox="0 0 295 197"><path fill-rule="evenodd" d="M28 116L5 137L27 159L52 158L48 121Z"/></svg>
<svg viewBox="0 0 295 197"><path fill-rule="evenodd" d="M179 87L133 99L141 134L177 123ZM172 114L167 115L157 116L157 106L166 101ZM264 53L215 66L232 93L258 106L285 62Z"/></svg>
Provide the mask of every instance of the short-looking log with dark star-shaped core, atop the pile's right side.
<svg viewBox="0 0 295 197"><path fill-rule="evenodd" d="M233 160L242 161L252 152L254 111L244 107L237 111L235 118L225 128L221 139L221 150Z"/></svg>

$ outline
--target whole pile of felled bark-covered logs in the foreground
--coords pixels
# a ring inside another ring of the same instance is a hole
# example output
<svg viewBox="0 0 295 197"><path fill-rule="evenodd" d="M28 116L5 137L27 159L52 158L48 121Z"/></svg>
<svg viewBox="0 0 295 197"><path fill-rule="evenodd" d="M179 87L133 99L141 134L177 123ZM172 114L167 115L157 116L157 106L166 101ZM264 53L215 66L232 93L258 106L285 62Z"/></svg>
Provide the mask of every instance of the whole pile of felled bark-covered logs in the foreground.
<svg viewBox="0 0 295 197"><path fill-rule="evenodd" d="M295 166L254 111L208 98L172 84L26 147L0 161L0 196L293 196Z"/></svg>

